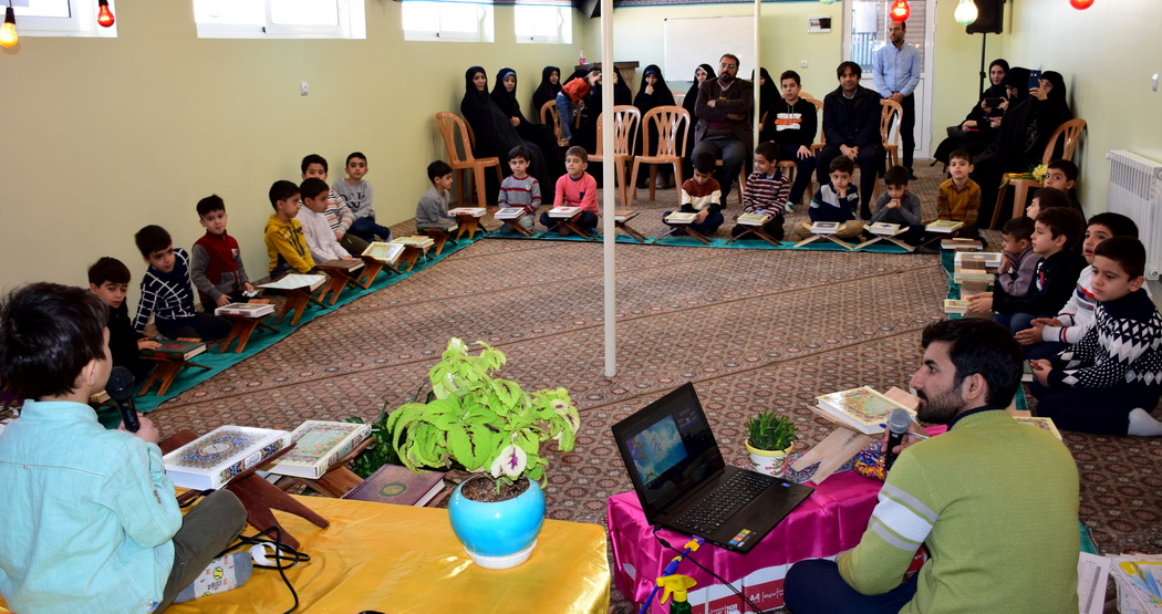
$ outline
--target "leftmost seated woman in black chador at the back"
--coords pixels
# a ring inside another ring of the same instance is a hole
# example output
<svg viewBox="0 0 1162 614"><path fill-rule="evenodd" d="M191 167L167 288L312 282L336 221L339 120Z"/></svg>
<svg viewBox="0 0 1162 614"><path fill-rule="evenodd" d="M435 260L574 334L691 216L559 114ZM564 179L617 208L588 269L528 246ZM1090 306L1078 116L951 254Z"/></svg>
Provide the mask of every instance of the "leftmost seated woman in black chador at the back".
<svg viewBox="0 0 1162 614"><path fill-rule="evenodd" d="M488 75L480 66L472 66L464 73L464 97L460 99L460 114L472 128L475 136L473 154L478 158L496 157L501 160L501 171L510 173L508 167L508 152L517 145L524 145L532 156L529 174L540 182L541 196L552 194L554 181L548 174L545 165L545 157L540 147L535 143L521 139L516 128L512 127L511 118L504 114L493 102L488 95ZM496 204L496 196L500 193L500 183L496 175L485 173L487 183L485 193L488 195L488 204Z"/></svg>

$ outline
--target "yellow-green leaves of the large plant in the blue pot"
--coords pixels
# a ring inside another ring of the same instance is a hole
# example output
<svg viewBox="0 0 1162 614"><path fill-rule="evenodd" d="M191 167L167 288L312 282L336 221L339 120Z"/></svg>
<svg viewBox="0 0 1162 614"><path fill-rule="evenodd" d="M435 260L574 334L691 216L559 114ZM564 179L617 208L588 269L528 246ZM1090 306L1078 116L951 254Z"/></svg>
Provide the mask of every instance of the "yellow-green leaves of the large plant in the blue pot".
<svg viewBox="0 0 1162 614"><path fill-rule="evenodd" d="M488 471L496 492L522 477L544 484L548 460L540 445L573 449L581 426L576 406L564 388L528 393L494 374L504 353L478 341L472 354L452 338L440 361L429 371L432 390L426 403L408 403L385 421L400 461L411 470L459 464L471 472Z"/></svg>

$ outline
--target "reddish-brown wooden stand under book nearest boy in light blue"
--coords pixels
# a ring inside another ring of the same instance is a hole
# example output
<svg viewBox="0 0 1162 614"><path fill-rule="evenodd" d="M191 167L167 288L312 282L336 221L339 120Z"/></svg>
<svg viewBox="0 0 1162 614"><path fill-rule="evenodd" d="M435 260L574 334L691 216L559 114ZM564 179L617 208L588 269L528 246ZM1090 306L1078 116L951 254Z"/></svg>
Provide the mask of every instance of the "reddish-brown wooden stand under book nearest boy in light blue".
<svg viewBox="0 0 1162 614"><path fill-rule="evenodd" d="M191 431L181 429L173 435L170 435L164 441L158 443L162 448L162 454L168 454L186 443L198 439ZM266 460L264 465L274 461L279 456L290 452L294 448L294 443L287 446L279 450L274 456ZM279 525L279 521L274 518L272 510L279 510L280 512L287 512L296 517L303 518L310 523L318 528L325 528L330 525L325 518L315 513L311 508L299 503L289 494L279 490L274 484L263 479L261 476L254 474L258 467L251 467L250 469L243 471L235 476L234 479L227 483L223 489L235 493L242 505L246 507L246 522L250 526L258 529L260 533L267 533L271 529L278 527L281 532L280 539L282 543L289 546L290 548L299 548L299 540L294 539L289 533ZM178 497L178 503L185 503L198 494L196 490L189 490L184 492Z"/></svg>

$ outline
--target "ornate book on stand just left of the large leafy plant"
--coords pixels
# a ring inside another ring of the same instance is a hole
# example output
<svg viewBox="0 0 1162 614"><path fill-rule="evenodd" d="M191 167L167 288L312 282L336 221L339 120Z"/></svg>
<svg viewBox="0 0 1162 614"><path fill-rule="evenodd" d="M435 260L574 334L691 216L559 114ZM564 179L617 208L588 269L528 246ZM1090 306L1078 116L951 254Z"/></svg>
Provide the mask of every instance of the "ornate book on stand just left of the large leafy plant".
<svg viewBox="0 0 1162 614"><path fill-rule="evenodd" d="M290 432L294 449L280 456L266 471L318 479L370 435L371 425L367 424L307 420Z"/></svg>

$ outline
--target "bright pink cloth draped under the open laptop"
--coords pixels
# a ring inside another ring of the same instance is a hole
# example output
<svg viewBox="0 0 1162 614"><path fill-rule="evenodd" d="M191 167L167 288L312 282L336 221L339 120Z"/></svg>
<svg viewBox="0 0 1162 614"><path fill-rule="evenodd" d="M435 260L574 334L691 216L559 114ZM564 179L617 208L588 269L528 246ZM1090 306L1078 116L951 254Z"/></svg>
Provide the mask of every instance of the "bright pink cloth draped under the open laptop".
<svg viewBox="0 0 1162 614"><path fill-rule="evenodd" d="M691 558L734 584L760 608L782 607L787 568L804 558L832 557L854 548L871 518L881 485L853 471L834 474L749 552L731 552L708 543L691 554ZM654 539L633 492L609 498L607 521L614 551L614 583L626 599L640 605L677 552ZM659 530L658 535L679 549L689 541L689 536L668 529ZM690 593L694 612L711 614L729 611L731 605L740 606L726 586L718 585L718 580L694 563L683 561L677 572L698 583ZM668 611L668 604L662 608L657 600L651 609Z"/></svg>

